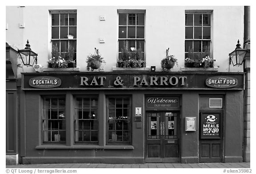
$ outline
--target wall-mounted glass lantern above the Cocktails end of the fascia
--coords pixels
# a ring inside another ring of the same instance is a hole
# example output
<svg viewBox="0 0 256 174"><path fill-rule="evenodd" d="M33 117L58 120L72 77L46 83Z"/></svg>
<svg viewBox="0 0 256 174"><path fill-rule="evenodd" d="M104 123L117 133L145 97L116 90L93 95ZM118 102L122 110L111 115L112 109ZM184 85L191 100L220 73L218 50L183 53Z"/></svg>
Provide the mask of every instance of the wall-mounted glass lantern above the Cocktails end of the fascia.
<svg viewBox="0 0 256 174"><path fill-rule="evenodd" d="M31 50L28 43L29 42L27 40L26 47L24 49L18 50L18 52L23 64L27 67L32 67L35 62L37 64L37 54Z"/></svg>

